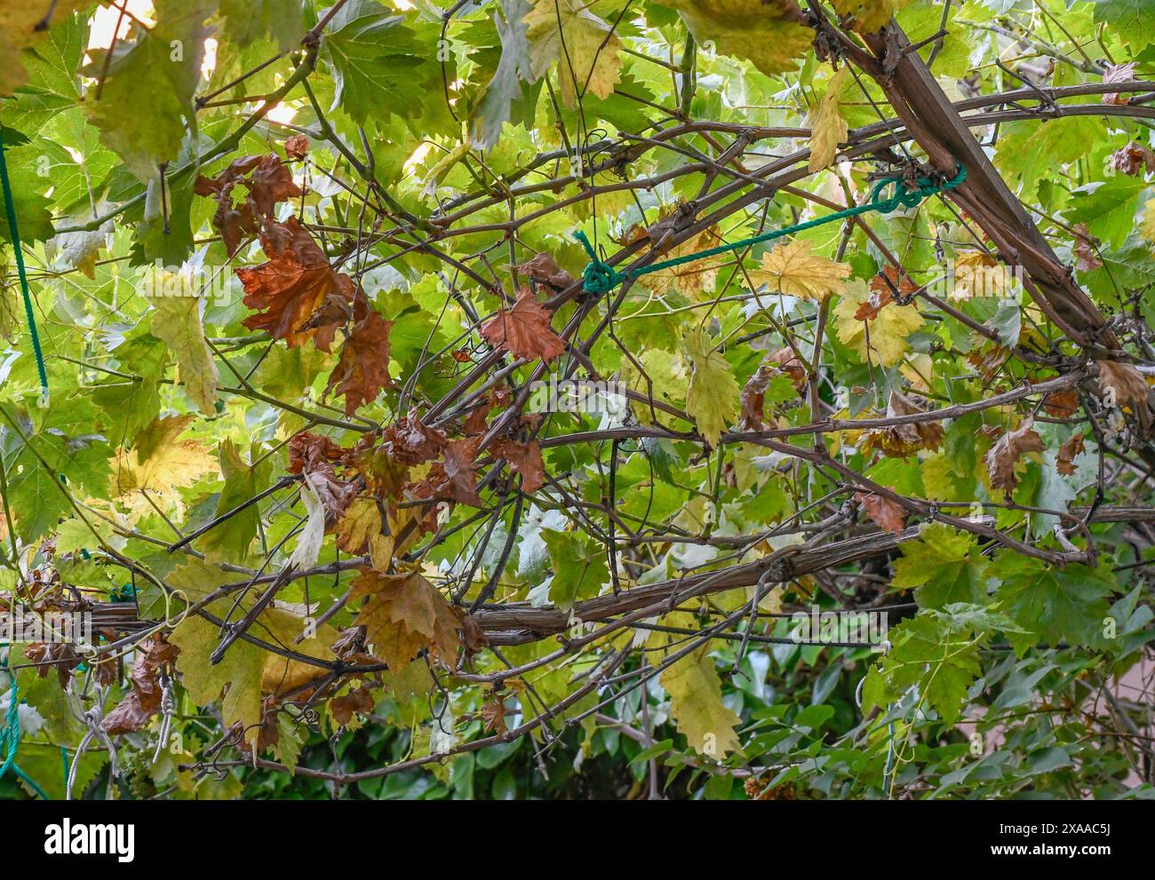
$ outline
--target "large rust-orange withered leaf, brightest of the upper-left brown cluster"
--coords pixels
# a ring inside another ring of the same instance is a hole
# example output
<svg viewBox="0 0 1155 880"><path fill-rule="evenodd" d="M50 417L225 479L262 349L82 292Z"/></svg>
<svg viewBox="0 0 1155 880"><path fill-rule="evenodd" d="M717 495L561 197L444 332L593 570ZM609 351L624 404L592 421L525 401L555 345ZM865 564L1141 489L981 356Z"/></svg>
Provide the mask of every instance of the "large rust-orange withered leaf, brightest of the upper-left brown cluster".
<svg viewBox="0 0 1155 880"><path fill-rule="evenodd" d="M267 330L290 346L313 338L316 348L328 351L336 323L322 327L310 319L326 297L352 300L353 279L329 264L325 252L296 217L283 224L266 223L261 245L268 262L237 269L245 288L245 305L256 310L243 323L249 330Z"/></svg>

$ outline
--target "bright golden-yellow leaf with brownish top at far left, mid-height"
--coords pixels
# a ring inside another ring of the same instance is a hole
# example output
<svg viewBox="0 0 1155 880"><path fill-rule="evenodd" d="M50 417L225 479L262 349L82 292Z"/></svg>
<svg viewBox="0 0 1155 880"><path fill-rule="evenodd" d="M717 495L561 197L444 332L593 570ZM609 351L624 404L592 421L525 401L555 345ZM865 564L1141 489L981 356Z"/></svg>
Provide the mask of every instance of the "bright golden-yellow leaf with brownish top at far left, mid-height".
<svg viewBox="0 0 1155 880"><path fill-rule="evenodd" d="M191 486L217 468L217 460L195 440L178 440L195 416L165 416L152 419L133 441L132 449L117 450L112 461L113 492L134 512L151 509L141 493L161 501L179 501L177 492Z"/></svg>

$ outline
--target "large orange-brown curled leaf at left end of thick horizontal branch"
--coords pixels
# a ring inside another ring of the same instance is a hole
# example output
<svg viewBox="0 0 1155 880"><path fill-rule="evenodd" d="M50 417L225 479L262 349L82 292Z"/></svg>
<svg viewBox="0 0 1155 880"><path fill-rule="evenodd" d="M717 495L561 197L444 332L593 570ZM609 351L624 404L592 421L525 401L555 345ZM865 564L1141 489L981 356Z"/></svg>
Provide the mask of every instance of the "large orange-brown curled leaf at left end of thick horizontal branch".
<svg viewBox="0 0 1155 880"><path fill-rule="evenodd" d="M401 669L426 648L444 663L454 663L461 647L461 618L419 572L382 574L362 568L350 599L366 596L368 603L355 622L366 628L374 654L389 669Z"/></svg>

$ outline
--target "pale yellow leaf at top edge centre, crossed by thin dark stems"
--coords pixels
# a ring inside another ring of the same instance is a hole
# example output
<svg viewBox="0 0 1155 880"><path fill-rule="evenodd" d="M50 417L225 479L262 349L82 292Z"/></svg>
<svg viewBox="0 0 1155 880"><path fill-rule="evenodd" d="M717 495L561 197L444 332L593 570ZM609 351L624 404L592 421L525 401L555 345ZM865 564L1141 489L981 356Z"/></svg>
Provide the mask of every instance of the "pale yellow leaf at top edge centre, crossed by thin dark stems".
<svg viewBox="0 0 1155 880"><path fill-rule="evenodd" d="M587 91L610 97L621 77L621 40L589 6L579 0L536 0L522 20L534 76L545 75L557 61L561 103L567 107L576 106Z"/></svg>

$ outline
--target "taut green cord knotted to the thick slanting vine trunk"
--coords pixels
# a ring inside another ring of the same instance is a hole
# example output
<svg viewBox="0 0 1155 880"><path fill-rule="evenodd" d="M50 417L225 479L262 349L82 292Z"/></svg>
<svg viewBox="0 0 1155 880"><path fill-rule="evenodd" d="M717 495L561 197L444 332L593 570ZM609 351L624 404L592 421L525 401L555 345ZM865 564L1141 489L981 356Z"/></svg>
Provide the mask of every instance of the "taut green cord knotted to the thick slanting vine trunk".
<svg viewBox="0 0 1155 880"><path fill-rule="evenodd" d="M709 247L705 251L696 251L692 254L686 254L685 256L676 256L672 260L662 260L661 262L642 266L638 269L627 269L624 273L617 271L613 267L599 260L597 258L597 253L594 251L594 246L590 245L589 239L586 237L586 233L579 230L574 233L574 239L581 243L582 247L586 248L586 253L589 254L589 263L587 263L586 269L582 273L582 289L587 293L605 293L609 290L613 290L613 288L618 286L627 278L632 279L641 275L649 275L650 273L661 271L663 269L672 269L675 266L683 266L707 256L716 256L718 254L729 253L730 251L738 251L743 247L757 245L761 241L773 241L776 238L813 229L814 226L821 226L826 223L834 223L840 219L847 219L848 217L857 217L859 214L866 214L869 211L889 214L900 207L914 208L916 204L922 202L923 199L934 195L936 193L945 193L949 189L954 189L966 179L967 169L962 165L957 166L957 173L955 177L946 182L936 184L930 178L921 177L916 181L914 188L907 187L901 176L882 178L874 184L870 199L862 204L855 206L854 208L847 208L845 210L828 214L825 217L806 221L805 223L796 223L792 226L784 226L770 232L763 232L762 234L753 236L752 238L744 238L740 241L735 241L732 244ZM894 195L884 199L882 191L891 184L894 184Z"/></svg>

